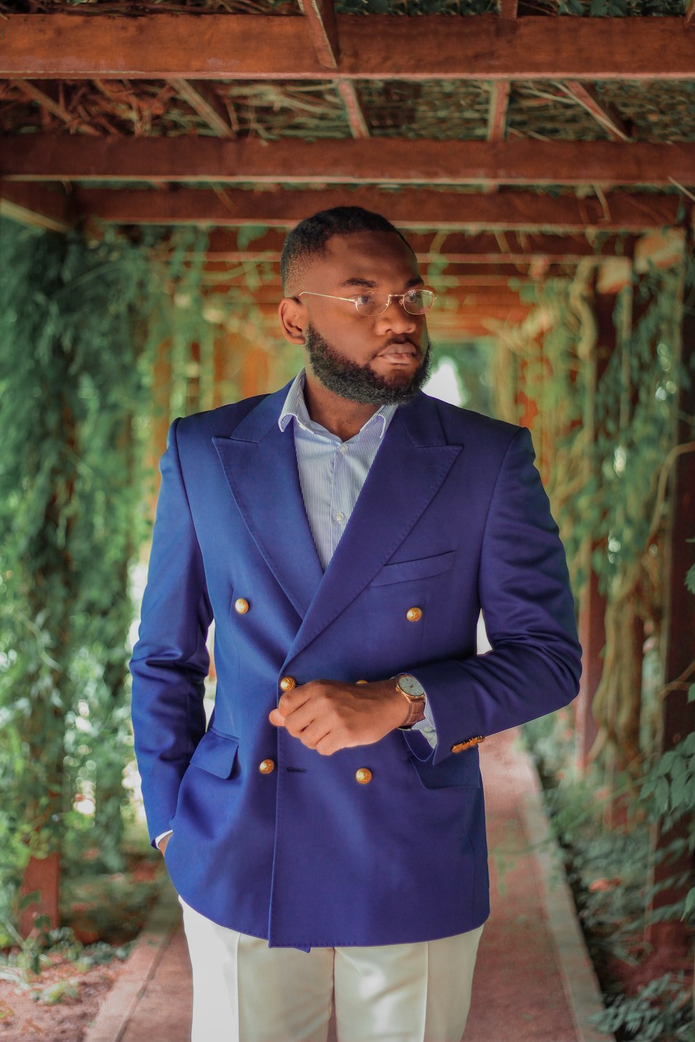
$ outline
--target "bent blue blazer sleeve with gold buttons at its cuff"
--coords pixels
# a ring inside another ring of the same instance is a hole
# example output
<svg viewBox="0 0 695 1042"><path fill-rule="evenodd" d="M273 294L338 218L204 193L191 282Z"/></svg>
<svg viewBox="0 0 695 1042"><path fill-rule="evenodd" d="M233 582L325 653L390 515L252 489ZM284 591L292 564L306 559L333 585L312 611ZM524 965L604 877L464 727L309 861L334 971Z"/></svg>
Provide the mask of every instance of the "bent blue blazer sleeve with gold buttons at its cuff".
<svg viewBox="0 0 695 1042"><path fill-rule="evenodd" d="M478 572L493 650L413 670L437 728L435 764L455 743L544 716L578 691L581 647L565 550L533 458L530 435L519 427L495 482Z"/></svg>

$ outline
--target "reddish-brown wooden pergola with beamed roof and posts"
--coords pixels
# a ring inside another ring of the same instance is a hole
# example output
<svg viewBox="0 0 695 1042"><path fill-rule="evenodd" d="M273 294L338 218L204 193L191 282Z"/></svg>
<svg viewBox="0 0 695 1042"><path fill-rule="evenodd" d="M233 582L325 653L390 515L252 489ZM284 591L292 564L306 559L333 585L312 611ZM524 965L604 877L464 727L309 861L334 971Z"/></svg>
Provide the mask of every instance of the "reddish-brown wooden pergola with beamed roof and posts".
<svg viewBox="0 0 695 1042"><path fill-rule="evenodd" d="M679 16L626 18L559 16L554 2L415 17L397 0L359 15L341 0L183 0L166 13L0 3L0 214L56 231L94 219L204 226L208 264L224 271L276 264L302 217L358 204L405 229L424 271L446 276L457 307L432 313L435 339L521 323L524 281L591 263L610 349L620 280L692 240L695 0ZM304 107L293 109L297 92ZM245 246L249 225L266 230ZM601 271L616 258L626 267L609 284ZM269 328L278 295L279 275L252 294ZM682 333L688 358L693 316ZM604 351L597 372L605 365ZM695 412L691 391L679 407ZM667 676L695 658L692 609L672 578L693 535L694 461L684 454L674 479ZM603 606L590 585L582 756ZM685 692L669 697L665 749L692 726L691 710ZM652 927L657 945L677 936L681 924Z"/></svg>

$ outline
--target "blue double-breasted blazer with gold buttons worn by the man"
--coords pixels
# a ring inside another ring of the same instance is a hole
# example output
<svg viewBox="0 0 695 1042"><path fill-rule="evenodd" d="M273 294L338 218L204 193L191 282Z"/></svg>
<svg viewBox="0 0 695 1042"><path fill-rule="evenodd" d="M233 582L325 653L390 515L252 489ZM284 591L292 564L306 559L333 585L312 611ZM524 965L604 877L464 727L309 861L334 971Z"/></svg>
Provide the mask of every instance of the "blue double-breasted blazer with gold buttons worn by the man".
<svg viewBox="0 0 695 1042"><path fill-rule="evenodd" d="M324 573L292 428L278 428L287 391L169 431L130 662L151 837L173 828L167 867L189 904L271 945L472 929L489 915L483 794L477 747L452 748L566 704L580 673L530 437L418 394L397 410ZM435 750L395 730L322 756L268 720L283 676L405 671L427 692Z"/></svg>

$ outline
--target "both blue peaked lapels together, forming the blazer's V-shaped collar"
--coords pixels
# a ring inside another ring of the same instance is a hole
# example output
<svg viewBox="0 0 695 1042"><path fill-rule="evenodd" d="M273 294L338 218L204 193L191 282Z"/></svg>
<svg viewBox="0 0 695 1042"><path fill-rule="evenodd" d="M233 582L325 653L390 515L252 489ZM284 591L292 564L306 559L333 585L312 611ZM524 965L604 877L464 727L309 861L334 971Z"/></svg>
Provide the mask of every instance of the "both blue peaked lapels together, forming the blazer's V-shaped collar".
<svg viewBox="0 0 695 1042"><path fill-rule="evenodd" d="M315 640L395 553L461 451L420 392L394 416L325 573L306 518L292 431L278 417L290 384L213 441L260 553L302 619L290 656Z"/></svg>

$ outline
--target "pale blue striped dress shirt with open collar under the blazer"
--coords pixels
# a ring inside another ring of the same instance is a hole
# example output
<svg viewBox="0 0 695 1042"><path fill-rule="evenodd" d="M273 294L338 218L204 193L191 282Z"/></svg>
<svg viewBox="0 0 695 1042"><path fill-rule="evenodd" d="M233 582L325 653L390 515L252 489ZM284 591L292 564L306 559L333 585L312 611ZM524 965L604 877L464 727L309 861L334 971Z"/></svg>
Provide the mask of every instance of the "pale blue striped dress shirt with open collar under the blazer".
<svg viewBox="0 0 695 1042"><path fill-rule="evenodd" d="M294 419L299 485L319 561L325 571L398 406L381 405L356 435L344 442L309 417L304 401L304 380L302 369L292 381L277 422L284 431ZM425 719L415 724L414 729L421 730L432 747L437 745L426 698Z"/></svg>

